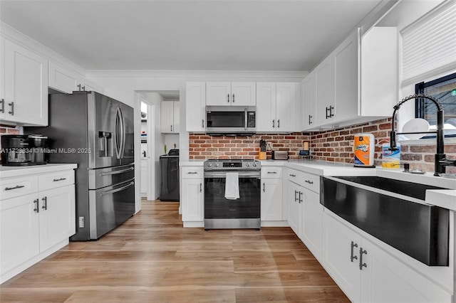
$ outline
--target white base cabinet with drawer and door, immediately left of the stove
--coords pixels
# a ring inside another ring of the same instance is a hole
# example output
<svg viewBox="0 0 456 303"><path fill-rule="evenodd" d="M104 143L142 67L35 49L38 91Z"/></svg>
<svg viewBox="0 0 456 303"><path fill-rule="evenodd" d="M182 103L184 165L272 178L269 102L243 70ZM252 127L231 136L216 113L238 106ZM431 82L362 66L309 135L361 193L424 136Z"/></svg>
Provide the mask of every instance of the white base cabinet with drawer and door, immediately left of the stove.
<svg viewBox="0 0 456 303"><path fill-rule="evenodd" d="M184 227L204 226L204 171L202 166L182 166L182 221Z"/></svg>

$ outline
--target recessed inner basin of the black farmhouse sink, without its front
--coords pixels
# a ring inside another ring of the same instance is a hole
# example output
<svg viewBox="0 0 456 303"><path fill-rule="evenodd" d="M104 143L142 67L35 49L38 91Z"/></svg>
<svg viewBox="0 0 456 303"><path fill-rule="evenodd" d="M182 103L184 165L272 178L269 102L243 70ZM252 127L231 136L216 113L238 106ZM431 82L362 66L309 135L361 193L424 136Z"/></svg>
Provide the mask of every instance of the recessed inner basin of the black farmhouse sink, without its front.
<svg viewBox="0 0 456 303"><path fill-rule="evenodd" d="M383 178L379 176L337 176L334 178L371 186L373 188L382 189L383 191L399 193L400 195L417 198L423 201L425 200L427 189L447 189L426 184Z"/></svg>

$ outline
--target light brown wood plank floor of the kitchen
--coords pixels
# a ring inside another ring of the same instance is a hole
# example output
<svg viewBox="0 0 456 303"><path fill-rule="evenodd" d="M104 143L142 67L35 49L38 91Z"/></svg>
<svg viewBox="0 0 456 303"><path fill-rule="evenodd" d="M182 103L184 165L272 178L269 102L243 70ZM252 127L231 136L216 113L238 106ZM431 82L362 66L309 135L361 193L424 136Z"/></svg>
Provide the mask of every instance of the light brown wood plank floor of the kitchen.
<svg viewBox="0 0 456 303"><path fill-rule="evenodd" d="M179 203L72 242L0 286L0 302L349 302L290 228L182 228Z"/></svg>

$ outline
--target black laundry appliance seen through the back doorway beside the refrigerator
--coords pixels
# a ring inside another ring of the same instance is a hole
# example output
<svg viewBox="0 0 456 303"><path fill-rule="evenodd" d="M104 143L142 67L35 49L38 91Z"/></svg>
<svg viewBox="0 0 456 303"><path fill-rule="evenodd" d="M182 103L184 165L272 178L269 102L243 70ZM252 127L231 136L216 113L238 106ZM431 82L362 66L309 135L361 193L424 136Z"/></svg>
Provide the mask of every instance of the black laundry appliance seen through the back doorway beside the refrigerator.
<svg viewBox="0 0 456 303"><path fill-rule="evenodd" d="M179 149L160 156L160 201L179 201Z"/></svg>

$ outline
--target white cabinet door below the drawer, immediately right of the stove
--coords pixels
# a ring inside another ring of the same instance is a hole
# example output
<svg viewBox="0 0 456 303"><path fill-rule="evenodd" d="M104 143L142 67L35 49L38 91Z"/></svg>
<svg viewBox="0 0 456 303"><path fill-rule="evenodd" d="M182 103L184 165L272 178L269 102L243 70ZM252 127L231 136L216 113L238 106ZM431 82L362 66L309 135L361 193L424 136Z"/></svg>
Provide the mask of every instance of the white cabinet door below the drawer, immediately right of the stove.
<svg viewBox="0 0 456 303"><path fill-rule="evenodd" d="M281 221L282 179L261 179L261 220Z"/></svg>

